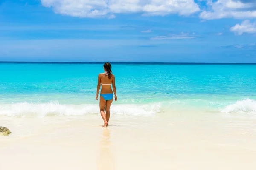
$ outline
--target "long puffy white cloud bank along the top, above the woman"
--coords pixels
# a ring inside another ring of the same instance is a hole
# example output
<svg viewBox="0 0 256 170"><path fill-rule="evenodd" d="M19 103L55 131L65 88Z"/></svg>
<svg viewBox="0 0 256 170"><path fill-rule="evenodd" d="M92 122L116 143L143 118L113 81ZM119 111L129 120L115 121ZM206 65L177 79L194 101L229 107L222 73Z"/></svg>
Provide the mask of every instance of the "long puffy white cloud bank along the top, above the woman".
<svg viewBox="0 0 256 170"><path fill-rule="evenodd" d="M117 13L190 15L200 11L194 0L41 0L55 13L74 17L108 17Z"/></svg>

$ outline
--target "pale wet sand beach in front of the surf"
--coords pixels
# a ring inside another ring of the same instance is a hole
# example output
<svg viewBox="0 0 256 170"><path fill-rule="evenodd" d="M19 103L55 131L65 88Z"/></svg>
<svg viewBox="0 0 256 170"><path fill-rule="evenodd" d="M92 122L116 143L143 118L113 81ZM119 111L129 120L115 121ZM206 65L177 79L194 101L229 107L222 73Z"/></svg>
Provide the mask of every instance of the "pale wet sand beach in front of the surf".
<svg viewBox="0 0 256 170"><path fill-rule="evenodd" d="M0 170L256 169L254 116L195 115L2 116Z"/></svg>

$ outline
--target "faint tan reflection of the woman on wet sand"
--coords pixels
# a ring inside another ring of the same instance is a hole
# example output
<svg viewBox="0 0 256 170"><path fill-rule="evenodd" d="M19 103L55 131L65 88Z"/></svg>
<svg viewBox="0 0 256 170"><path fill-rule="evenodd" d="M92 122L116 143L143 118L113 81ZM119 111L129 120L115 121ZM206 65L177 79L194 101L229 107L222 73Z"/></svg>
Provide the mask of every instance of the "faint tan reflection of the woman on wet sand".
<svg viewBox="0 0 256 170"><path fill-rule="evenodd" d="M98 170L115 170L114 159L111 153L111 133L109 128L102 129L102 136L99 142L99 156L97 159Z"/></svg>

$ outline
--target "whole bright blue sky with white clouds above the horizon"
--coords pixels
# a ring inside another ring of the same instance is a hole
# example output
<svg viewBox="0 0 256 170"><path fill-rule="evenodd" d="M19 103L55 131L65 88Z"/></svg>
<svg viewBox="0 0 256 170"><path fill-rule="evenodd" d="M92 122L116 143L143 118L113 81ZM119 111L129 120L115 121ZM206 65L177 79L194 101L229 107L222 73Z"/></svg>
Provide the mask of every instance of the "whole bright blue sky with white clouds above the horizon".
<svg viewBox="0 0 256 170"><path fill-rule="evenodd" d="M256 62L255 0L0 0L0 61Z"/></svg>

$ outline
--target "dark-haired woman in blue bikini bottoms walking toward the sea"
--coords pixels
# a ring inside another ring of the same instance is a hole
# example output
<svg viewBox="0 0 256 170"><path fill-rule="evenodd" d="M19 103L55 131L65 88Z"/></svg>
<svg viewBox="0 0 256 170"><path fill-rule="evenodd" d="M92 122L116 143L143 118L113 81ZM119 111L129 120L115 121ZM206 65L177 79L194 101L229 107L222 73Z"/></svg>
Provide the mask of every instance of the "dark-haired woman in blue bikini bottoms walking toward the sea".
<svg viewBox="0 0 256 170"><path fill-rule="evenodd" d="M117 100L116 96L116 83L115 76L112 74L111 65L109 62L106 62L103 66L105 73L101 73L98 76L98 86L97 86L97 95L96 100L98 100L99 88L102 85L99 98L99 109L102 119L104 120L103 127L108 126L108 121L110 118L110 105L113 102L113 91L115 94L115 101ZM111 84L113 84L113 91L111 89ZM104 112L106 110L106 113Z"/></svg>

